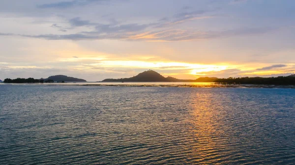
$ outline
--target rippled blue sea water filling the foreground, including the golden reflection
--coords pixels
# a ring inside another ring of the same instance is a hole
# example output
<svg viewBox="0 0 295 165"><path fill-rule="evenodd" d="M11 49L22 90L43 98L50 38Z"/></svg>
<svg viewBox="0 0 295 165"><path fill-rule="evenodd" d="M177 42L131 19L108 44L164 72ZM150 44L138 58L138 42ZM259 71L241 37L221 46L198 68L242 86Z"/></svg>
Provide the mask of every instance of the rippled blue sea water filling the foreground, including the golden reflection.
<svg viewBox="0 0 295 165"><path fill-rule="evenodd" d="M295 89L0 85L0 165L295 164Z"/></svg>

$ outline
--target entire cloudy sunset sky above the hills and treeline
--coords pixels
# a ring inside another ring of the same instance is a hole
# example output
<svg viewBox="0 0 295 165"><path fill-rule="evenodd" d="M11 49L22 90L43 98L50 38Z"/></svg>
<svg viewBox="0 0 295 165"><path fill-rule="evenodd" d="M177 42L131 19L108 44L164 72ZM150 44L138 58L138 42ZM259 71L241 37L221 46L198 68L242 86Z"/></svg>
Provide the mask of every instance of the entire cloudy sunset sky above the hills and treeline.
<svg viewBox="0 0 295 165"><path fill-rule="evenodd" d="M294 0L0 0L0 80L295 73Z"/></svg>

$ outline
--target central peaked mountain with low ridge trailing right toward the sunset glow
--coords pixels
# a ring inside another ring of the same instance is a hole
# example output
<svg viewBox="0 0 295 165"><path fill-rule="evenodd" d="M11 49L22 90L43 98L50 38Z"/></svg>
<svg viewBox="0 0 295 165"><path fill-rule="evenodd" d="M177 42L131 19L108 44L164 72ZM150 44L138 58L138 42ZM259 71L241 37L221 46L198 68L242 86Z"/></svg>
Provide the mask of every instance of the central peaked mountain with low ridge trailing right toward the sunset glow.
<svg viewBox="0 0 295 165"><path fill-rule="evenodd" d="M144 71L137 76L123 79L105 79L102 82L213 82L218 78L199 78L196 80L182 80L168 76L165 78L153 70Z"/></svg>

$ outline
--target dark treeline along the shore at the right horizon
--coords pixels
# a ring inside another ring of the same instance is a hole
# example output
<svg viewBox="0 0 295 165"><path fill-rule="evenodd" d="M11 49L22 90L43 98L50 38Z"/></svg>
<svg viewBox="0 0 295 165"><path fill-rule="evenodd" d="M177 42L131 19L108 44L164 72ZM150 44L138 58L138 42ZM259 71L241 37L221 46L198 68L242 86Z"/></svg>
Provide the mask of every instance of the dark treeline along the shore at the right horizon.
<svg viewBox="0 0 295 165"><path fill-rule="evenodd" d="M279 76L279 77L243 77L243 78L227 78L217 79L215 83L236 83L236 84L271 84L271 85L295 85L295 77L293 76Z"/></svg>

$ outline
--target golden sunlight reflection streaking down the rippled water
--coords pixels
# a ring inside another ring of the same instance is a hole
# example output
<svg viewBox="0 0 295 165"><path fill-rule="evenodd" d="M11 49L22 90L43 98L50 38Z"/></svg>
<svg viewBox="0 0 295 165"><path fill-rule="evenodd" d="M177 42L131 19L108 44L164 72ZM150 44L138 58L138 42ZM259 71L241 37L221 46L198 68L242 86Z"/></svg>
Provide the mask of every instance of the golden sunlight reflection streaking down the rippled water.
<svg viewBox="0 0 295 165"><path fill-rule="evenodd" d="M218 161L217 157L220 156L217 151L223 149L220 138L223 137L223 133L220 131L222 127L222 122L217 110L216 103L212 98L213 93L198 93L193 95L191 106L193 111L191 111L191 138L197 141L194 146L194 159L197 162L206 161L208 164ZM212 104L214 102L214 104ZM220 105L221 106L221 105ZM210 162L214 160L214 162ZM216 162L215 162L216 163Z"/></svg>

